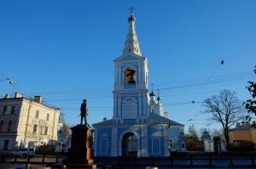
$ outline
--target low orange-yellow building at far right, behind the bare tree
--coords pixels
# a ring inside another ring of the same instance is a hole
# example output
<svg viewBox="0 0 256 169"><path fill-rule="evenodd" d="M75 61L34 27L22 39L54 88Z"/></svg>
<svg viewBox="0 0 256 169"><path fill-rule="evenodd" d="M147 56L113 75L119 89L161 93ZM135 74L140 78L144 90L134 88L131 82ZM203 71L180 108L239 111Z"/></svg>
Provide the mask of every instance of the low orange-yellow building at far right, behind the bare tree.
<svg viewBox="0 0 256 169"><path fill-rule="evenodd" d="M229 134L230 143L246 140L256 144L256 128L253 128L249 122L237 123L236 127L231 129Z"/></svg>

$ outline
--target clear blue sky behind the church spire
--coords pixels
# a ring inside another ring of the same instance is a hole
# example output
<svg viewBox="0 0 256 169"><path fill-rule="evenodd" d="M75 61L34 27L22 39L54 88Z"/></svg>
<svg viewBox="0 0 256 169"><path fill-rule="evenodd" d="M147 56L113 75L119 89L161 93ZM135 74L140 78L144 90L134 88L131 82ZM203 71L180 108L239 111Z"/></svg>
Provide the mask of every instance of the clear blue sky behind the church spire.
<svg viewBox="0 0 256 169"><path fill-rule="evenodd" d="M0 81L7 76L26 97L42 95L46 104L61 108L68 124L79 122L84 97L90 123L111 118L113 59L122 54L131 6L149 83L160 88L172 120L218 127L201 114L201 103L183 103L201 102L221 89L248 99L247 81L256 77L253 0L2 0ZM12 90L0 82L0 94Z"/></svg>

